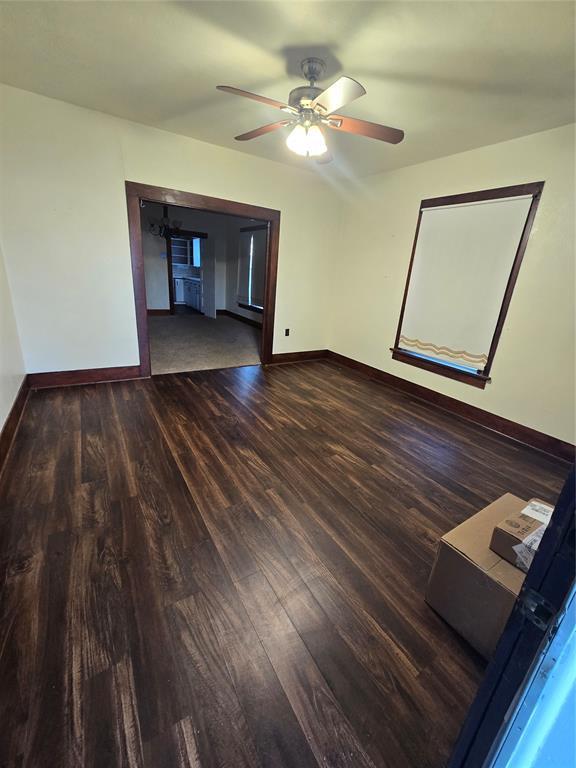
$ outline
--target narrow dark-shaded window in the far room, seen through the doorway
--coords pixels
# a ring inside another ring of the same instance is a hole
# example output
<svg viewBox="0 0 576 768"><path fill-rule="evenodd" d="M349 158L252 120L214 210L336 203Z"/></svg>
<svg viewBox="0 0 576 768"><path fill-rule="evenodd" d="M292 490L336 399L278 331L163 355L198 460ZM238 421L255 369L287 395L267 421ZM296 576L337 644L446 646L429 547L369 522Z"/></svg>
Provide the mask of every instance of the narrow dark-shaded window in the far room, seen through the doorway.
<svg viewBox="0 0 576 768"><path fill-rule="evenodd" d="M238 306L253 312L264 308L267 241L267 225L240 230Z"/></svg>

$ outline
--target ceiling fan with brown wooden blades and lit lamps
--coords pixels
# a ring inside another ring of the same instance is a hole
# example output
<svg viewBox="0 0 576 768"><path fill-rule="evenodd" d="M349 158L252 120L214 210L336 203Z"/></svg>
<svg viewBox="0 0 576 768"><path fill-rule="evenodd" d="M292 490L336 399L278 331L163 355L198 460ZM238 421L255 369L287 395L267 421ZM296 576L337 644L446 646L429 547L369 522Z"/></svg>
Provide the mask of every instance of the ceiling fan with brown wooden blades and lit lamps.
<svg viewBox="0 0 576 768"><path fill-rule="evenodd" d="M286 145L292 152L303 157L320 157L328 151L322 132L324 127L344 133L354 133L357 136L367 136L369 139L378 139L390 144L398 144L402 141L404 131L397 128L389 128L386 125L336 114L336 110L366 93L366 89L356 80L343 76L328 86L326 90L322 90L316 86L316 82L322 79L325 72L324 61L315 57L304 59L301 63L301 69L309 84L290 91L288 104L269 99L267 96L250 93L250 91L242 91L230 85L216 86L219 91L268 104L289 115L285 120L269 123L253 131L248 131L248 133L242 133L235 137L236 141L248 141L279 128L294 126L286 139Z"/></svg>

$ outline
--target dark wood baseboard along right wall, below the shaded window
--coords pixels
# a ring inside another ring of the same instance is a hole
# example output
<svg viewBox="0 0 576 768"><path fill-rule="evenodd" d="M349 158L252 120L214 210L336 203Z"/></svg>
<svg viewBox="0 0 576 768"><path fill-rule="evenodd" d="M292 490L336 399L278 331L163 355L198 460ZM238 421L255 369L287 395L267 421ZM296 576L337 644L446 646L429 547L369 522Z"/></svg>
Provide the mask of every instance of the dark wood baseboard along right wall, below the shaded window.
<svg viewBox="0 0 576 768"><path fill-rule="evenodd" d="M552 437L544 432L538 432L538 430L532 429L531 427L526 427L523 424L510 421L510 419L505 419L503 416L497 416L495 413L484 411L482 408L478 408L475 405L469 405L468 403L462 402L462 400L456 400L453 397L443 395L440 392L435 392L433 389L428 389L428 387L423 387L420 384L414 384L406 379L401 379L399 376L394 376L391 373L386 373L386 371L381 371L379 368L373 368L371 365L360 363L357 360L353 360L351 357L340 355L337 352L328 351L326 357L334 363L345 365L347 368L359 371L372 379L376 379L383 384L388 384L388 386L394 387L394 389L398 389L417 397L419 400L425 400L427 403L431 403L444 411L448 411L449 413L461 416L468 421L480 424L481 426L486 427L486 429L499 432L506 437L510 437L525 445L529 445L532 448L537 448L538 450L549 453L559 459L564 459L565 461L570 462L574 461L576 447L557 437Z"/></svg>

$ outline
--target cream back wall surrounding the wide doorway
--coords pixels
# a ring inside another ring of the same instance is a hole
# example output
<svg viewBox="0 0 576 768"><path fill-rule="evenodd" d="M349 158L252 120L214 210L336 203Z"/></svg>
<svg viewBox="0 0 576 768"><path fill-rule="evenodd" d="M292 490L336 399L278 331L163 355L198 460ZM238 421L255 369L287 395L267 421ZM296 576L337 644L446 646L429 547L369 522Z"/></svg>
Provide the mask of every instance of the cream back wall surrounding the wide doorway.
<svg viewBox="0 0 576 768"><path fill-rule="evenodd" d="M279 209L274 351L326 346L338 203L319 177L7 86L0 111L0 232L28 372L138 363L126 179Z"/></svg>

